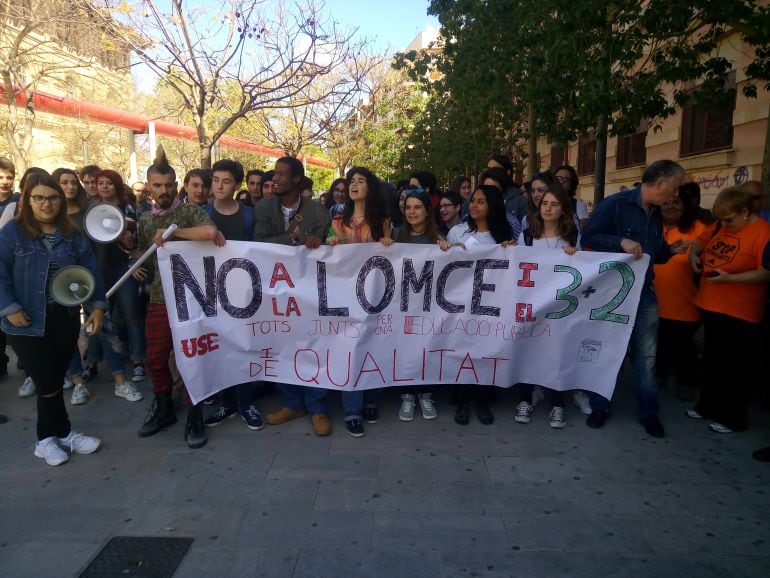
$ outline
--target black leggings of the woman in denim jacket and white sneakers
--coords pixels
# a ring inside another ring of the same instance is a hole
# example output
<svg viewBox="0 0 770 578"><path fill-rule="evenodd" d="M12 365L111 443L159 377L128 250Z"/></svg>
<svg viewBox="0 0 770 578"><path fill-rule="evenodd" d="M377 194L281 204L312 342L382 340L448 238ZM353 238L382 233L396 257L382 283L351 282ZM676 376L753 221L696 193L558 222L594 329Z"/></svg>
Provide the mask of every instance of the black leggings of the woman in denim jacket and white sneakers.
<svg viewBox="0 0 770 578"><path fill-rule="evenodd" d="M52 436L66 437L70 433L62 384L77 347L79 332L80 314L76 309L49 305L42 337L8 335L24 369L35 382L38 440Z"/></svg>

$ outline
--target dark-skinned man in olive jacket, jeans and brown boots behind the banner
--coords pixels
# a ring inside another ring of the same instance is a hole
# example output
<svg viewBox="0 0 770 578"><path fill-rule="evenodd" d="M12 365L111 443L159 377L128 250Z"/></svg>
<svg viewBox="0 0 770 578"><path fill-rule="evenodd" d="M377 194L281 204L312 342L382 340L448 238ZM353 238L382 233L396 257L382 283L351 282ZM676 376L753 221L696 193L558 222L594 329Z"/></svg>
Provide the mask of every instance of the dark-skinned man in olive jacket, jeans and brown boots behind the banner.
<svg viewBox="0 0 770 578"><path fill-rule="evenodd" d="M300 195L304 176L305 168L297 159L282 157L276 161L271 176L272 195L254 208L255 241L304 245L308 249L321 245L329 230L329 213L321 203ZM325 389L293 384L278 387L283 407L267 415L268 424L279 425L310 413L316 435L332 432Z"/></svg>

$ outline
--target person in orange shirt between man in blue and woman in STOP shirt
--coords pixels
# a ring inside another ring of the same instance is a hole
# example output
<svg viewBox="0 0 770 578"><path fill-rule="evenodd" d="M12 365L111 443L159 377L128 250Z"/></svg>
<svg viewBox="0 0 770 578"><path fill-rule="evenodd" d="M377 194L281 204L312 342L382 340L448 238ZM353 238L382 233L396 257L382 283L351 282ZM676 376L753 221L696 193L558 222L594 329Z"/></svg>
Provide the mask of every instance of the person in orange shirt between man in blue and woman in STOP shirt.
<svg viewBox="0 0 770 578"><path fill-rule="evenodd" d="M684 187L684 186L683 186ZM697 239L706 229L698 220L698 208L689 195L680 194L660 206L663 236L671 244L683 239ZM673 369L677 382L677 397L693 400L698 383L698 354L693 336L700 327L701 311L695 306L698 288L686 253L674 255L662 265L655 265L655 293L658 296L660 323L658 325L657 375L665 385Z"/></svg>

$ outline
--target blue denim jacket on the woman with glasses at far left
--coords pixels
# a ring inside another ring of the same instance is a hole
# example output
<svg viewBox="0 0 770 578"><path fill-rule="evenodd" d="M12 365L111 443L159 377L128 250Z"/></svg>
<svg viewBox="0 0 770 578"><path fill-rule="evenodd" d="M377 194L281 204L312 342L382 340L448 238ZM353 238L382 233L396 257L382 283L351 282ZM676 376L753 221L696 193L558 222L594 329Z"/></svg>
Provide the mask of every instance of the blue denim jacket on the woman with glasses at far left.
<svg viewBox="0 0 770 578"><path fill-rule="evenodd" d="M85 236L77 233L66 239L57 231L51 249L59 267L81 265L91 272L95 281L91 304L106 309L104 282ZM0 328L5 333L34 337L44 334L49 261L48 248L40 238L27 237L16 221L0 229ZM22 310L29 316L30 324L16 327L8 321L8 315Z"/></svg>

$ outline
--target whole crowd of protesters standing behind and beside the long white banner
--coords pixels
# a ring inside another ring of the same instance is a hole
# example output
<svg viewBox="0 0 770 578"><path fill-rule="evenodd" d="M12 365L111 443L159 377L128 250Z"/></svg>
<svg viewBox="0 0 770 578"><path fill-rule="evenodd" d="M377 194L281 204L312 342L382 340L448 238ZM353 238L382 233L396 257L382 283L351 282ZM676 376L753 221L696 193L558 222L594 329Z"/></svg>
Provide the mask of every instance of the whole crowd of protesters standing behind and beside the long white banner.
<svg viewBox="0 0 770 578"><path fill-rule="evenodd" d="M37 399L34 453L50 465L67 461L65 450L98 449L97 438L72 429L64 390L72 390L71 404L87 403L87 384L102 361L113 375L115 395L126 401L141 401L142 384L150 378L153 399L139 436L155 435L177 421L173 344L157 261L136 268L110 299L105 294L144 251L164 244L162 232L172 223L177 225L172 240L217 246L227 240L309 249L349 243L433 244L441 250L519 244L568 256L582 250L637 259L647 254L650 265L628 348L640 424L650 436L665 435L659 389L671 374L677 396L694 402L688 418L706 419L718 434L748 427L749 403L757 393L754 376L768 335L770 215L759 182L722 190L709 211L701 208L698 185L686 182L680 165L656 161L637 186L609 196L589 217L577 198L574 168L540 172L519 186L505 155L493 155L473 179L457 177L446 192L429 171L416 171L394 186L354 167L318 200L313 181L292 157L278 159L269 171L244 171L236 161L220 160L210 170L189 171L180 191L162 151L146 181L130 187L117 172L97 166L51 174L28 169L19 193L15 179L13 164L0 158L0 376L8 375L7 339L25 373L19 396ZM84 231L84 215L102 202L117 206L127 223L109 243L92 241ZM55 273L75 264L95 279L82 313L59 304L51 293ZM696 344L700 329L702 348ZM566 424L570 398L587 414L589 427L603 427L611 415L611 400L590 391L512 385L514 419L521 424L530 422L545 399L555 429ZM235 416L259 430L309 415L316 435L332 433L328 390L277 384L281 407L263 418L256 407L263 387L235 385L195 405L187 397L189 446L202 447L206 428ZM364 436L364 424L380 419L378 399L390 390L401 399L399 420L413 420L417 408L426 420L437 417L436 387L342 392L350 435ZM493 407L502 398L496 388L447 390L457 424L469 423L471 407L480 423L493 423ZM0 423L6 419L0 416ZM770 461L770 448L754 457Z"/></svg>

